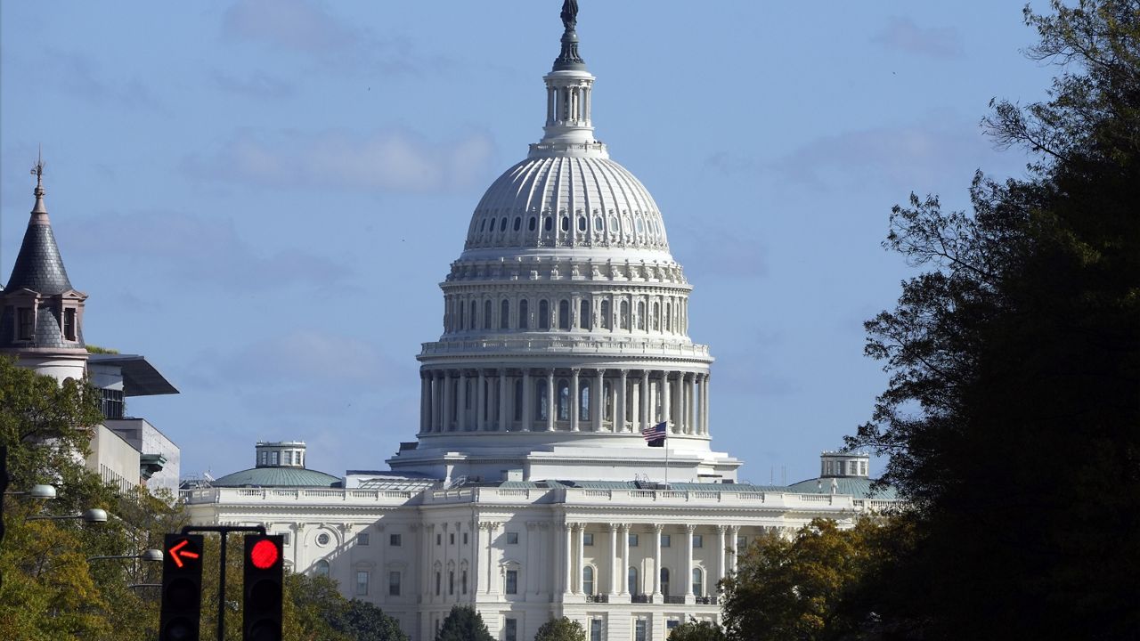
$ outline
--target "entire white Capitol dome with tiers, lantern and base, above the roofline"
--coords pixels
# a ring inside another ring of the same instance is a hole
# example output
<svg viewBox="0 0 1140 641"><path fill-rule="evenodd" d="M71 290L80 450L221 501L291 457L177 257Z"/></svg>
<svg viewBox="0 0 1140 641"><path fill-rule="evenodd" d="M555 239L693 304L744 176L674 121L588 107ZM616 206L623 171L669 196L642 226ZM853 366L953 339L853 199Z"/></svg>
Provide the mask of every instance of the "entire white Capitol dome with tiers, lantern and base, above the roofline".
<svg viewBox="0 0 1140 641"><path fill-rule="evenodd" d="M594 137L573 29L561 44L542 139L480 198L440 283L417 440L388 463L434 478L734 480L740 462L709 447L712 357L689 336L692 285L653 197ZM666 447L646 446L654 427Z"/></svg>

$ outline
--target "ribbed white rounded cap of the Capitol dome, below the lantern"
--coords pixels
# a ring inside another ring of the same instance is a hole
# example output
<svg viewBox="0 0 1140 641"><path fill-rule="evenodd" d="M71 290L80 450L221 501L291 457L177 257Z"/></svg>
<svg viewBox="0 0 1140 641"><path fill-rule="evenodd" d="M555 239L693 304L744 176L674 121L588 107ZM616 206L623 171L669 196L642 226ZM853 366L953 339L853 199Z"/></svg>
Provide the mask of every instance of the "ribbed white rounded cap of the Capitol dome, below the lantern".
<svg viewBox="0 0 1140 641"><path fill-rule="evenodd" d="M464 250L531 248L669 251L649 190L600 154L529 157L483 194Z"/></svg>

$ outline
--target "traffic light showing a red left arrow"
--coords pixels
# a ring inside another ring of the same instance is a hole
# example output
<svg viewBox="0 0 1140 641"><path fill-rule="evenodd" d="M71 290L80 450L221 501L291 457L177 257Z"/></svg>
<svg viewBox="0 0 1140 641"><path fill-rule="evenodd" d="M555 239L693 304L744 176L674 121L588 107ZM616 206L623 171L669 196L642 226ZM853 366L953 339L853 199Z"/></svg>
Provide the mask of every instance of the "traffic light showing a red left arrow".
<svg viewBox="0 0 1140 641"><path fill-rule="evenodd" d="M202 535L168 534L162 559L160 641L197 641L202 612Z"/></svg>

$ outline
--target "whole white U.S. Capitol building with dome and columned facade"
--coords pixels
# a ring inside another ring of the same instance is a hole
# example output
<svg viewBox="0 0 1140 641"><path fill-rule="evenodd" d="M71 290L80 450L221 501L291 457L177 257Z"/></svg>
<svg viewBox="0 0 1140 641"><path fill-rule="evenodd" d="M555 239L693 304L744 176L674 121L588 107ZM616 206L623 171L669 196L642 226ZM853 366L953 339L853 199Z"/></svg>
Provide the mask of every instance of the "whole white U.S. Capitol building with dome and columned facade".
<svg viewBox="0 0 1140 641"><path fill-rule="evenodd" d="M415 641L455 605L502 641L563 615L592 640L662 641L719 618L717 582L755 537L893 502L869 497L862 454L755 486L712 449L692 285L657 203L594 137L572 5L544 136L487 189L441 284L416 440L388 471L344 477L307 469L303 443L259 443L254 468L184 492L195 522L286 535L293 570L337 579ZM649 447L661 422L666 446Z"/></svg>

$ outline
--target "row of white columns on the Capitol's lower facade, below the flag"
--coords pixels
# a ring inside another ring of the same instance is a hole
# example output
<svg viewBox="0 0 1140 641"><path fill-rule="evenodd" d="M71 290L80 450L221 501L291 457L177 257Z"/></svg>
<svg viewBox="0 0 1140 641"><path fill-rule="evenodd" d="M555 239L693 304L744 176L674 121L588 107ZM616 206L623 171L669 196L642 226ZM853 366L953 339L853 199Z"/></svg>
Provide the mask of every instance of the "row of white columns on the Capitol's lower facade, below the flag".
<svg viewBox="0 0 1140 641"><path fill-rule="evenodd" d="M594 577L597 593L609 593L618 595L629 595L629 584L627 581L630 568L629 557L629 534L630 527L627 524L609 524L610 534L609 546L609 577ZM679 577L685 585L685 597L694 597L691 581L693 568L693 533L697 526L683 524L679 527L685 530L685 566L684 574ZM706 591L708 586L716 585L727 574L736 571L736 537L740 534L740 526L717 525L715 527L716 538L716 574L705 577ZM661 533L665 526L654 524L651 526L653 533L653 576L652 594L661 597ZM583 575L586 567L585 554L586 524L565 522L562 527L563 553L562 553L562 592L564 594L583 594ZM732 542L733 550L730 551L725 537ZM644 579L638 577L644 585Z"/></svg>

